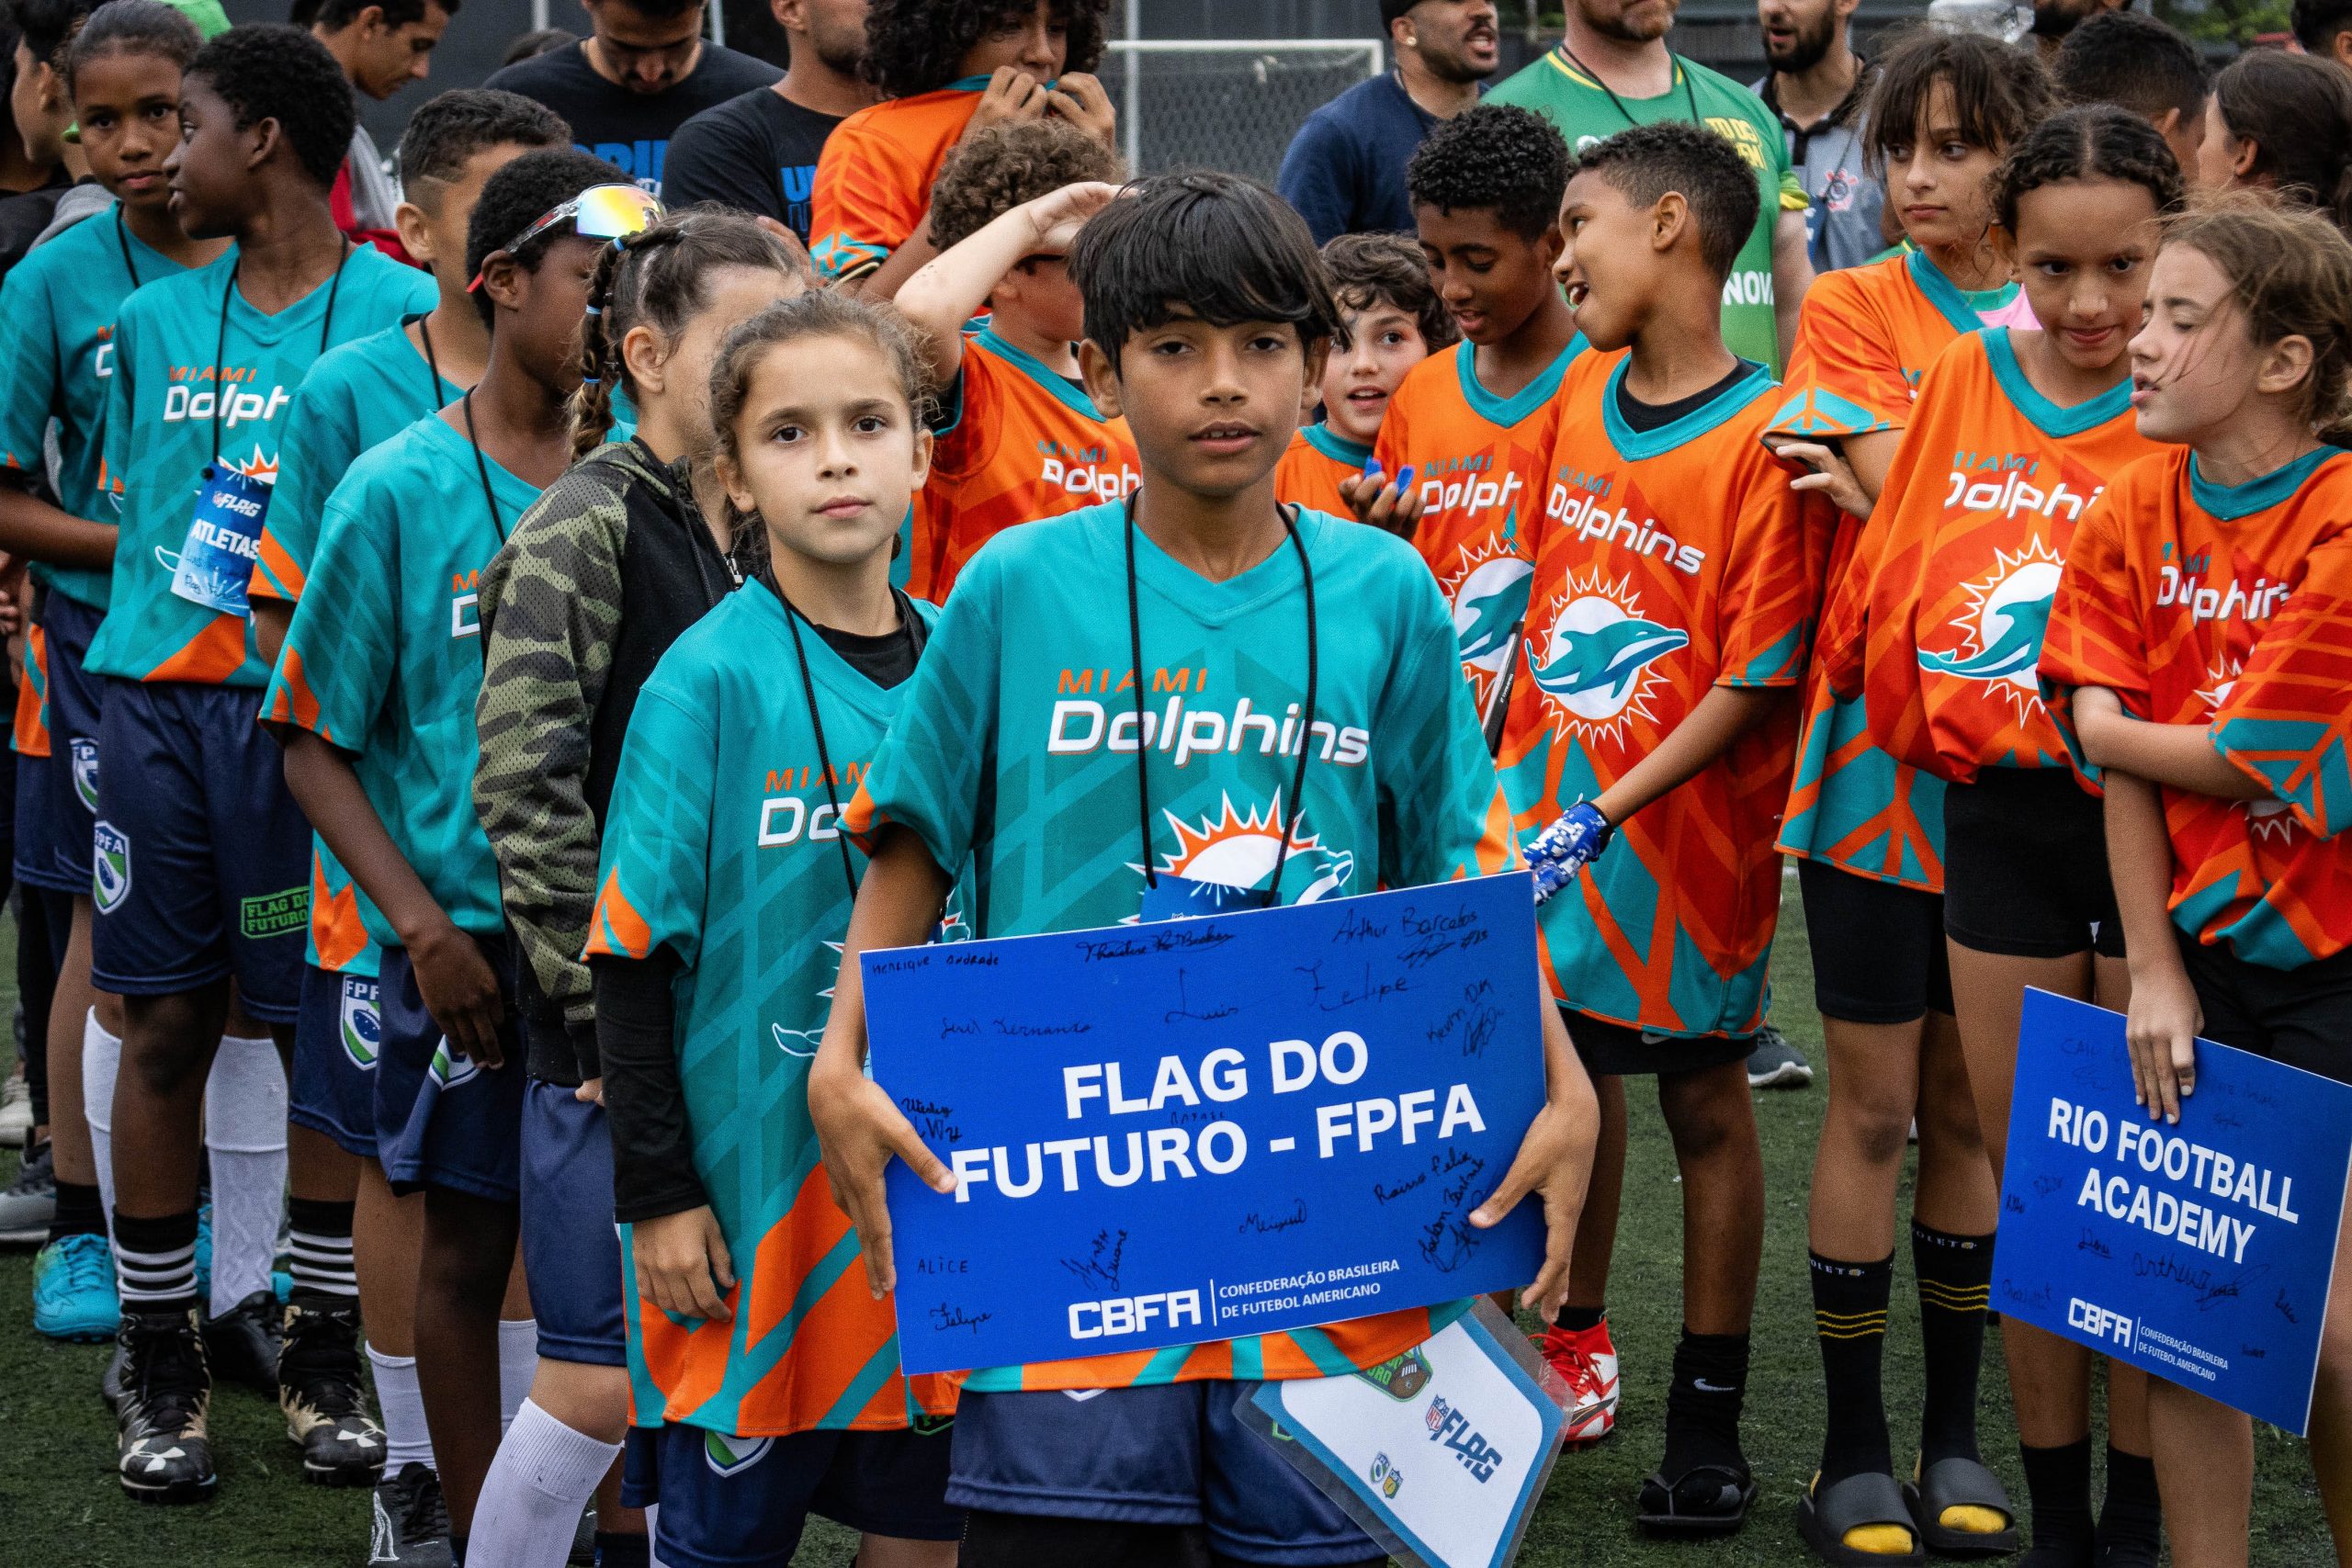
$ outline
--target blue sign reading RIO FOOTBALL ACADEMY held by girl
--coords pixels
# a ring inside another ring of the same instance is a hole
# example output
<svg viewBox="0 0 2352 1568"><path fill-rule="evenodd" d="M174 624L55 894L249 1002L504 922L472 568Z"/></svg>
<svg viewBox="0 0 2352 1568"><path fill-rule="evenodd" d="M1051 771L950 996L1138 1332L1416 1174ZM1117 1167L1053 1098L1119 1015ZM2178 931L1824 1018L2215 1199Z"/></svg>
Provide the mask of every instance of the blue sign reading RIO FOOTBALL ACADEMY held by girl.
<svg viewBox="0 0 2352 1568"><path fill-rule="evenodd" d="M2199 1039L2152 1121L2124 1018L2030 990L1992 1305L2300 1434L2347 1168L2352 1086Z"/></svg>

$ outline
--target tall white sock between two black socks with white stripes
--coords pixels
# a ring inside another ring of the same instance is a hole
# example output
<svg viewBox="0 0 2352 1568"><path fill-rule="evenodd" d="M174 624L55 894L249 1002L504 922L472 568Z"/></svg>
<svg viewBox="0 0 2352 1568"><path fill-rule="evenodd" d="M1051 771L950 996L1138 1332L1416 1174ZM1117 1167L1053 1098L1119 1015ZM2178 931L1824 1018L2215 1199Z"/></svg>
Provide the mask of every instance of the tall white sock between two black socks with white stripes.
<svg viewBox="0 0 2352 1568"><path fill-rule="evenodd" d="M270 1288L287 1211L287 1072L270 1037L221 1037L205 1079L212 1157L212 1314Z"/></svg>

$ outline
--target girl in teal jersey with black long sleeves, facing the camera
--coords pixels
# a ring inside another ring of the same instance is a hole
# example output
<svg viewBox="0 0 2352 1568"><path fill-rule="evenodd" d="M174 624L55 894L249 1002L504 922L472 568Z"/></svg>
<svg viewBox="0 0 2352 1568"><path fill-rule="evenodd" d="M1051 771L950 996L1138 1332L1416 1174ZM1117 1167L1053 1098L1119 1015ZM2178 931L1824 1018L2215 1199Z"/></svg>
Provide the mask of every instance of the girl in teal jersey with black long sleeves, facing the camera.
<svg viewBox="0 0 2352 1568"><path fill-rule="evenodd" d="M807 1095L866 875L840 811L936 614L889 583L931 461L917 334L802 294L729 334L710 404L727 512L767 536L771 574L644 684L588 938L630 1359L661 1401L637 1413L668 1422L637 1450L642 1502L670 1563L783 1568L814 1512L863 1530L861 1563L948 1568L955 1380L903 1375L889 1298L828 1267L849 1218Z"/></svg>

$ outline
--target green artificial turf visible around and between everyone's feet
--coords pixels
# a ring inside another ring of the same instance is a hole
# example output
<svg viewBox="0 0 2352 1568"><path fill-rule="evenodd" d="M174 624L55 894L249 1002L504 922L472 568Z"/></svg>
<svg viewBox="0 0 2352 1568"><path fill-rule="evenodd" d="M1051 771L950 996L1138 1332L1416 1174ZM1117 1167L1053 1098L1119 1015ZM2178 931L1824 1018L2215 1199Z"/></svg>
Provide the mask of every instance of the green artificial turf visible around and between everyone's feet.
<svg viewBox="0 0 2352 1568"><path fill-rule="evenodd" d="M12 973L0 966L0 976ZM1806 1048L1818 1070L1820 1020L1811 1011L1804 912L1795 882L1788 884L1773 980L1773 1023ZM7 1013L9 992L12 985L0 983L0 1016ZM1806 1091L1757 1095L1766 1232L1745 1443L1759 1486L1748 1528L1715 1544L1658 1544L1639 1537L1632 1526L1635 1488L1658 1460L1665 1371L1679 1331L1682 1206L1656 1100L1632 1093L1630 1103L1625 1222L1609 1286L1609 1316L1625 1373L1621 1427L1595 1450L1562 1455L1519 1561L1531 1568L1811 1563L1797 1540L1795 1502L1820 1448L1820 1363L1804 1267L1804 1204L1823 1081L1816 1079ZM12 1171L14 1157L0 1157L0 1180ZM1907 1462L1907 1425L1919 1410L1919 1340L1910 1253L1900 1246L1898 1253L1886 1408L1898 1462ZM96 1392L106 1347L49 1345L33 1335L31 1260L31 1251L0 1253L0 1568L343 1568L365 1559L367 1493L301 1486L278 1410L242 1389L214 1399L221 1493L209 1507L151 1509L127 1502L113 1481L113 1422ZM1997 1333L1985 1345L1983 1387L1985 1460L2023 1507L2025 1481L2009 1434L2009 1387ZM2258 1425L2256 1476L2253 1563L2331 1563L2303 1446ZM849 1533L816 1523L795 1561L847 1568L854 1544Z"/></svg>

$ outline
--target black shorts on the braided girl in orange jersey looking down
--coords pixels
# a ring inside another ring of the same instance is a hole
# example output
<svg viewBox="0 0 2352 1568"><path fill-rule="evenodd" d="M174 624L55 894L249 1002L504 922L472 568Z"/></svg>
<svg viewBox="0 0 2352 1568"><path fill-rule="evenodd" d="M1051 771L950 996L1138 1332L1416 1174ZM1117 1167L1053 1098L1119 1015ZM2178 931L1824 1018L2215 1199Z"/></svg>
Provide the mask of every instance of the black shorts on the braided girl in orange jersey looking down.
<svg viewBox="0 0 2352 1568"><path fill-rule="evenodd" d="M2098 797L2067 769L1985 769L1950 785L1943 929L2013 959L2124 957Z"/></svg>

